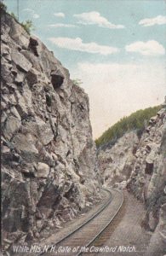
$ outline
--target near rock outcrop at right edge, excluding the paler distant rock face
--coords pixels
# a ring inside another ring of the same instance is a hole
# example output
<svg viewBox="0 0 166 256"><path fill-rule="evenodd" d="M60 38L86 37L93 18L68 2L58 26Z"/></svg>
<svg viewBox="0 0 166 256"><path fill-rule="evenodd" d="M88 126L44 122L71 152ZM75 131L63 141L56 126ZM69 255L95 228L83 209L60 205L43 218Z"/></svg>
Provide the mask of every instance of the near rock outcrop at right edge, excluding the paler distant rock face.
<svg viewBox="0 0 166 256"><path fill-rule="evenodd" d="M153 232L146 255L166 252L166 102L150 119L136 151L127 189L146 206L142 227Z"/></svg>

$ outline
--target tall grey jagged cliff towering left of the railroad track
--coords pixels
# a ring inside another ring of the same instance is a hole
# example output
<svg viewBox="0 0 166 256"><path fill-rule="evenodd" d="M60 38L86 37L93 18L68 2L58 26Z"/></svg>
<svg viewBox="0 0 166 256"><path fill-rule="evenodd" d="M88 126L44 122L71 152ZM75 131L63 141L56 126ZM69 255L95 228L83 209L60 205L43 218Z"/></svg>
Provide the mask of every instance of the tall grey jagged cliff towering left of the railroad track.
<svg viewBox="0 0 166 256"><path fill-rule="evenodd" d="M28 240L95 201L100 174L83 89L7 14L1 43L3 238Z"/></svg>

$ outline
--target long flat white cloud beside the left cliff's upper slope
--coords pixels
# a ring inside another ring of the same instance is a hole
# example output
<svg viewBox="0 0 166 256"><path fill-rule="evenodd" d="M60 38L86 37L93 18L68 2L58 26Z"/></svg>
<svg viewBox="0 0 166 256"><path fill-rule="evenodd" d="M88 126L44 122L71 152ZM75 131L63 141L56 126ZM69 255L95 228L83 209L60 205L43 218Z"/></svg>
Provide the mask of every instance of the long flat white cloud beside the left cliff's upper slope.
<svg viewBox="0 0 166 256"><path fill-rule="evenodd" d="M119 51L117 48L96 44L94 42L83 43L81 38L49 38L49 41L60 48L78 50L93 54L112 55Z"/></svg>

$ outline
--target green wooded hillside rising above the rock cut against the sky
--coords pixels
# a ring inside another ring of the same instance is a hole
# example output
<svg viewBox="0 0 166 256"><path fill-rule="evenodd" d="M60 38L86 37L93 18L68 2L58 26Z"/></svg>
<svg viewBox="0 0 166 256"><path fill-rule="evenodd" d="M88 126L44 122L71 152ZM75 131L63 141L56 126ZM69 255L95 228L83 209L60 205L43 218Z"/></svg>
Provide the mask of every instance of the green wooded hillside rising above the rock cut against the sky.
<svg viewBox="0 0 166 256"><path fill-rule="evenodd" d="M146 122L152 116L156 115L159 109L161 109L161 106L146 108L144 110L140 109L129 115L129 117L123 117L123 119L120 119L95 140L97 147L108 143L115 143L127 131L137 131L137 135L140 137L145 129Z"/></svg>

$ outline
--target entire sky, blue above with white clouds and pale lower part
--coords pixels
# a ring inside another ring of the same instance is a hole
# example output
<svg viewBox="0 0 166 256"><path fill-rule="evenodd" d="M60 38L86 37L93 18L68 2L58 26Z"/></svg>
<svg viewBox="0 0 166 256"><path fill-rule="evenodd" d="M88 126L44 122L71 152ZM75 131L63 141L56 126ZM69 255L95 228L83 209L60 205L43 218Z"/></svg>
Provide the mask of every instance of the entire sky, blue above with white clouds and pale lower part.
<svg viewBox="0 0 166 256"><path fill-rule="evenodd" d="M20 0L19 19L89 95L94 138L166 95L166 1ZM5 0L17 15L17 0Z"/></svg>

